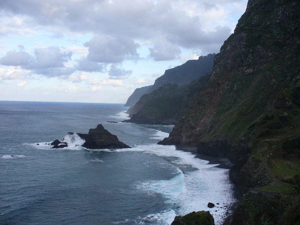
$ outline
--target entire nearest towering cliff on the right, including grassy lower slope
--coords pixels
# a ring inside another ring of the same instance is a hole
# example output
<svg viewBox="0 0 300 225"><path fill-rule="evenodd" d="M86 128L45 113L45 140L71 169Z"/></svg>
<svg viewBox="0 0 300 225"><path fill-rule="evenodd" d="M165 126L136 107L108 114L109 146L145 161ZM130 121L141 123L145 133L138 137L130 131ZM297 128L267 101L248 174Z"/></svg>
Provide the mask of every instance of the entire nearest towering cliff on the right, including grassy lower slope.
<svg viewBox="0 0 300 225"><path fill-rule="evenodd" d="M249 0L210 81L160 142L229 158L241 190L263 195L256 207L258 195L243 197L232 224L251 215L274 224L300 220L299 10L296 0ZM264 213L266 202L276 207Z"/></svg>

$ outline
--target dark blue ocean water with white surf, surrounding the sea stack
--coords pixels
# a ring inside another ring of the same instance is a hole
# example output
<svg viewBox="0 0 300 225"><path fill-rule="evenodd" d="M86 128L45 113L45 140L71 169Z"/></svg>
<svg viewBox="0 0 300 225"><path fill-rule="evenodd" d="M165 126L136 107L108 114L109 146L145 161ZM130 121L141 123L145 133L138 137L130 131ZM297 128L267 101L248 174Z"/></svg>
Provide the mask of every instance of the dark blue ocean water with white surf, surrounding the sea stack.
<svg viewBox="0 0 300 225"><path fill-rule="evenodd" d="M107 123L127 109L0 101L0 224L170 224L208 201L223 206L211 211L220 224L235 201L227 170L157 145L172 126ZM133 149L45 145L100 123Z"/></svg>

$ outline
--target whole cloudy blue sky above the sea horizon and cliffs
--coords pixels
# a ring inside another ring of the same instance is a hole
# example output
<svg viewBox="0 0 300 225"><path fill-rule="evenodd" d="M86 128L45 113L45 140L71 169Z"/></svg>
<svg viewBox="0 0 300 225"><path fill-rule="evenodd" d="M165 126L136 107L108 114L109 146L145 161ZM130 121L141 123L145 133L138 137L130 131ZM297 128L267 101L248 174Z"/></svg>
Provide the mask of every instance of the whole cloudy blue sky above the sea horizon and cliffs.
<svg viewBox="0 0 300 225"><path fill-rule="evenodd" d="M125 103L218 53L247 0L1 0L0 100Z"/></svg>

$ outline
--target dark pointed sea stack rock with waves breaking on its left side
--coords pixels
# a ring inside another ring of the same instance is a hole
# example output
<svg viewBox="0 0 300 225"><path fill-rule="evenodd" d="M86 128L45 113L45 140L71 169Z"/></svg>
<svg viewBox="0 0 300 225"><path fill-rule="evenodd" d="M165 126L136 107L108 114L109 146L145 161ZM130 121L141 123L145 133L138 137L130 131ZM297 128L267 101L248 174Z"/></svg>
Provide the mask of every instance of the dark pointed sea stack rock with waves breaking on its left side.
<svg viewBox="0 0 300 225"><path fill-rule="evenodd" d="M102 124L99 124L97 128L90 129L88 134L77 135L85 140L82 147L88 149L125 149L131 148L125 145L123 142L119 141L116 135L111 134L109 131L104 129Z"/></svg>

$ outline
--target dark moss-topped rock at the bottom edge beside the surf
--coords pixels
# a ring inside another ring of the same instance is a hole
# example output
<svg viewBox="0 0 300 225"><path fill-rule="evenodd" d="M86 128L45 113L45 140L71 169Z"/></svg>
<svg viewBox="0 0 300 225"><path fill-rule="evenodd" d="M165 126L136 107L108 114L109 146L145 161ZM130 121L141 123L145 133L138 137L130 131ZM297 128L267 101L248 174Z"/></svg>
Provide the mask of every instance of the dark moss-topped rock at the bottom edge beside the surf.
<svg viewBox="0 0 300 225"><path fill-rule="evenodd" d="M214 217L209 211L191 212L184 216L176 216L171 225L214 225Z"/></svg>

